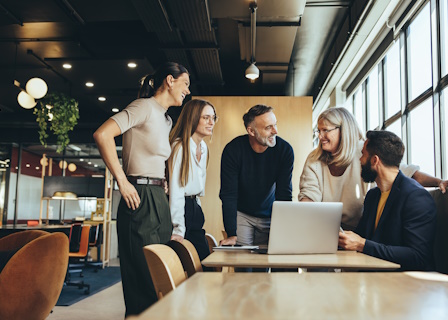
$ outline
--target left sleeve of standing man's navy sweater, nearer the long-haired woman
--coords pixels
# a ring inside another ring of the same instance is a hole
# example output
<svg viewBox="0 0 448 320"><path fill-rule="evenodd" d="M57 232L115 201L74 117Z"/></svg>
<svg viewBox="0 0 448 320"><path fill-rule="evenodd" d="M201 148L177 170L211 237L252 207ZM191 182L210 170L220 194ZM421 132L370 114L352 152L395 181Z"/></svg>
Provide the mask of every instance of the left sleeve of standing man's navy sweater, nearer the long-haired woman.
<svg viewBox="0 0 448 320"><path fill-rule="evenodd" d="M238 152L233 152L228 144L221 158L221 190L222 217L224 229L228 237L236 236L236 216L238 204Z"/></svg>

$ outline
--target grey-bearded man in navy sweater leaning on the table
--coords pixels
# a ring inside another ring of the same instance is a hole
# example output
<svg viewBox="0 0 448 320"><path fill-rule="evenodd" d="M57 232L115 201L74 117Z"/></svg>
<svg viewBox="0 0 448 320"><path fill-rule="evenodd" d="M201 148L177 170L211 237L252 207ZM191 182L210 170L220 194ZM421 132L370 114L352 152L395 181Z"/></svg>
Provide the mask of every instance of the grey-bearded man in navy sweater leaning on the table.
<svg viewBox="0 0 448 320"><path fill-rule="evenodd" d="M227 238L221 245L266 245L273 202L292 201L294 152L277 136L273 110L250 108L243 116L247 134L222 153L219 197Z"/></svg>

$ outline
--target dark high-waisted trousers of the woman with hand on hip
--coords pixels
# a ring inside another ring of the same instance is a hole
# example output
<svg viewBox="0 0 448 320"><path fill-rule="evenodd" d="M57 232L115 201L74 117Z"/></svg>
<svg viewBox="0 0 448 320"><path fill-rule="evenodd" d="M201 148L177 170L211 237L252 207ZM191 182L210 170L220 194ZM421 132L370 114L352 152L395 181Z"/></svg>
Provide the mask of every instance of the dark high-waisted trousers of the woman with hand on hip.
<svg viewBox="0 0 448 320"><path fill-rule="evenodd" d="M158 298L143 247L167 243L172 233L165 191L159 186L135 185L140 206L134 211L121 199L117 214L118 250L126 316L149 308Z"/></svg>

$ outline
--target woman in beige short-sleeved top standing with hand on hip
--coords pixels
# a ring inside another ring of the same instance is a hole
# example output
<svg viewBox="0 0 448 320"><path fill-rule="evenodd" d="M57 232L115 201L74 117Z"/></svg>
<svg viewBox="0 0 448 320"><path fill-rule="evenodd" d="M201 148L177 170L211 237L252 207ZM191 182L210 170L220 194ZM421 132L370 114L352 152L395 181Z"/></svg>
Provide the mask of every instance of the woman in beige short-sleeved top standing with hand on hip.
<svg viewBox="0 0 448 320"><path fill-rule="evenodd" d="M121 193L117 214L118 249L126 316L139 314L157 299L143 254L148 244L170 240L172 224L164 191L165 161L171 154L170 106L181 106L190 77L180 64L168 62L142 82L138 99L112 116L94 133L101 157ZM123 168L114 138L123 134Z"/></svg>

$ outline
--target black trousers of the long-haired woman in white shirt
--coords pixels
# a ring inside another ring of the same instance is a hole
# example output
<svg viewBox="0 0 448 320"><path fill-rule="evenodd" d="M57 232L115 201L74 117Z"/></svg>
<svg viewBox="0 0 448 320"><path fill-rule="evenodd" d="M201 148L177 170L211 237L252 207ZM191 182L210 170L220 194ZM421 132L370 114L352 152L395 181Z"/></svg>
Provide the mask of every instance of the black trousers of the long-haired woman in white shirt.
<svg viewBox="0 0 448 320"><path fill-rule="evenodd" d="M185 198L185 239L193 243L201 261L210 254L205 230L202 229L204 222L204 212L196 199Z"/></svg>

